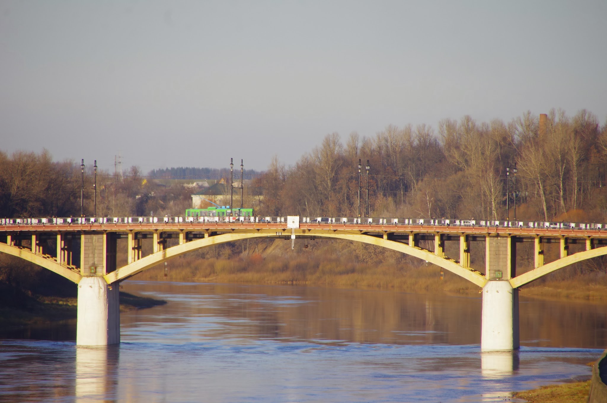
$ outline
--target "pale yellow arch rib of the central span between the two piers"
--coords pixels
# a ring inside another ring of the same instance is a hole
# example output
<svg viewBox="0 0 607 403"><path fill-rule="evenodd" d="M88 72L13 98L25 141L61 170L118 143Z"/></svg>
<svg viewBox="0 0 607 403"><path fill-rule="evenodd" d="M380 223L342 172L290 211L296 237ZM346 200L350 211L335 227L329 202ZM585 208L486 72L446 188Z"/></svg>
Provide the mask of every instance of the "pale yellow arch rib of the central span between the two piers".
<svg viewBox="0 0 607 403"><path fill-rule="evenodd" d="M351 234L347 232L334 232L333 234L331 234L325 231L310 231L307 232L307 234L315 235L318 237L345 239L351 241L364 242L370 245L382 246L383 248L392 249L398 252L418 257L422 260L427 260L430 263L434 263L437 266L440 266L446 270L451 271L452 273L457 274L458 276L463 277L466 280L469 280L470 282L480 286L481 288L487 282L487 279L485 279L482 274L472 269L463 268L452 260L444 259L443 257L436 256L432 252L425 251L424 249L413 248L412 246L405 245L404 243L385 240L379 237L373 237L371 235ZM164 251L156 252L155 254L148 255L146 257L143 257L142 259L137 260L136 262L123 266L112 273L106 274L106 276L104 276L104 279L107 283L125 280L131 276L134 276L137 273L140 273L145 269L157 265L158 263L165 262L166 260L172 259L173 257L180 256L190 251L194 251L195 249L205 248L206 246L218 245L220 243L231 242L235 240L268 236L270 236L268 233L257 231L251 233L238 232L232 234L215 235L213 237L182 243L181 245L172 246L171 248L164 249Z"/></svg>

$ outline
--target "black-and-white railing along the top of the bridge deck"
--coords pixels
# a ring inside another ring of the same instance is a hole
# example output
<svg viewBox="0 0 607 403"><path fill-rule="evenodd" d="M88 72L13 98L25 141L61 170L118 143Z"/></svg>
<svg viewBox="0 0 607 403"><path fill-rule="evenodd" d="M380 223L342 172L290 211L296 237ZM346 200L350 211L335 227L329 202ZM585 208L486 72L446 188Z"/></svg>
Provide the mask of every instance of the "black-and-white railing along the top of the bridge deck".
<svg viewBox="0 0 607 403"><path fill-rule="evenodd" d="M42 217L42 218L0 218L1 226L44 226L44 225L103 225L137 223L286 223L287 217ZM384 218L384 217L300 217L300 223L342 224L342 225L403 225L403 226L469 226L486 228L534 228L534 229L591 229L607 231L605 223L541 222L541 221L500 221L500 220L460 220L453 218Z"/></svg>

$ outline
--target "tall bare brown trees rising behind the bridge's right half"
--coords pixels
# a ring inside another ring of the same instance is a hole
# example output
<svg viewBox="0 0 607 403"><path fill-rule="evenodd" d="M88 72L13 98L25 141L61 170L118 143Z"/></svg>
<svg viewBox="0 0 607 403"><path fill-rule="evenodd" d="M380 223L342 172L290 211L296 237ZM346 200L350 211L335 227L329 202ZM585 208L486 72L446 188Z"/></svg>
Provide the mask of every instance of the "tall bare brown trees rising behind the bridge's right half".
<svg viewBox="0 0 607 403"><path fill-rule="evenodd" d="M586 110L541 118L465 116L441 120L436 130L422 124L388 126L373 137L354 133L345 143L327 135L292 166L273 159L257 178L261 213L356 216L360 159L361 215L368 160L371 216L505 219L509 205L512 219L516 203L521 220L604 220L607 126Z"/></svg>

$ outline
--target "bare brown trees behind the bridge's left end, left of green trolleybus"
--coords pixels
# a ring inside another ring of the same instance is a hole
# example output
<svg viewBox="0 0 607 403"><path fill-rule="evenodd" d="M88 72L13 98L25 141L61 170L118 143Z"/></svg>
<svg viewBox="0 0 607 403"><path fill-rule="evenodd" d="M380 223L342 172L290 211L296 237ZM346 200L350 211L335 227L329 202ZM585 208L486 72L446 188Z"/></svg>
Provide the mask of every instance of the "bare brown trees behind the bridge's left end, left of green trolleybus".
<svg viewBox="0 0 607 403"><path fill-rule="evenodd" d="M95 208L98 216L183 214L191 205L189 189L148 180L135 166L126 175L100 170L97 195L93 185L91 166L83 186L79 163L53 161L47 151L0 152L0 217L90 216Z"/></svg>

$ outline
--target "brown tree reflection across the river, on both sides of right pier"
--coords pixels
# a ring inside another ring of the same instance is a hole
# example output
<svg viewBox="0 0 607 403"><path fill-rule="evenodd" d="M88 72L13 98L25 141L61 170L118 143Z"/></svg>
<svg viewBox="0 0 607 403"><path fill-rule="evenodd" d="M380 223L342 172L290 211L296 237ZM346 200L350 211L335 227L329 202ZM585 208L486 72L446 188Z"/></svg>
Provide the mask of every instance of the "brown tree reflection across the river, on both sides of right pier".
<svg viewBox="0 0 607 403"><path fill-rule="evenodd" d="M171 337L322 340L387 344L480 344L481 298L306 286L125 282L124 289L169 300L121 318L123 336L145 323L171 323ZM192 320L208 327L188 333ZM177 323L175 323L177 322ZM571 326L575 323L575 326ZM179 329L184 331L180 333ZM172 331L171 331L172 330ZM132 333L134 332L134 333ZM525 299L521 345L605 348L605 303ZM158 334L155 334L158 337ZM174 340L174 339L172 339Z"/></svg>

